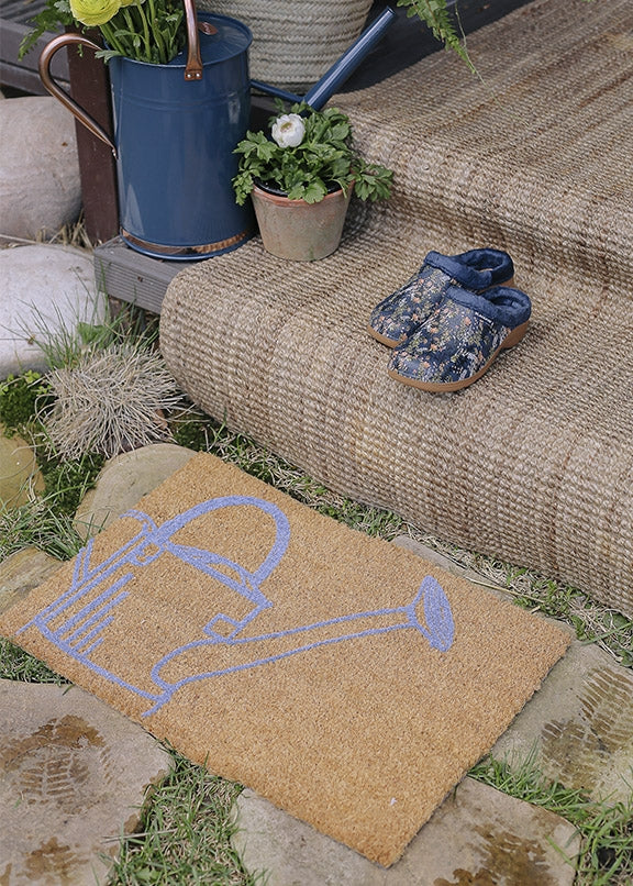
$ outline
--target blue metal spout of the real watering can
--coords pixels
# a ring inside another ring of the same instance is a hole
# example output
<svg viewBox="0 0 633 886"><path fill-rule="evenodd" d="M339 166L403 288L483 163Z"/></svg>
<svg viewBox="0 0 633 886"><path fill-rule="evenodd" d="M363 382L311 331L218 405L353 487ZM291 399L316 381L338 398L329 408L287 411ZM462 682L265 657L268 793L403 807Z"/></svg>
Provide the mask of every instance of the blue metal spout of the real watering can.
<svg viewBox="0 0 633 886"><path fill-rule="evenodd" d="M315 111L321 110L323 106L332 98L334 92L347 80L356 70L358 65L369 54L369 52L382 38L387 29L390 27L396 13L390 7L387 7L377 19L360 34L355 43L343 53L332 67L325 71L319 82L306 93L303 98L293 92L288 92L285 89L279 89L268 84L263 84L259 80L252 80L251 85L262 92L270 96L285 99L286 101L300 102L304 101Z"/></svg>

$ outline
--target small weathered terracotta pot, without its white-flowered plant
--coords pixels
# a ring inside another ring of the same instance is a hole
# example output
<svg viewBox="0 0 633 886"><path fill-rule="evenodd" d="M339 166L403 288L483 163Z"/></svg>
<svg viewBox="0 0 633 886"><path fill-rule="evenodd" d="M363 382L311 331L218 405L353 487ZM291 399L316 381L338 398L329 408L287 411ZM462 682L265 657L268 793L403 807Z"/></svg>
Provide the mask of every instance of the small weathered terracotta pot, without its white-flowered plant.
<svg viewBox="0 0 633 886"><path fill-rule="evenodd" d="M289 200L255 186L253 206L266 252L291 262L315 262L341 242L352 188L327 193L319 203Z"/></svg>

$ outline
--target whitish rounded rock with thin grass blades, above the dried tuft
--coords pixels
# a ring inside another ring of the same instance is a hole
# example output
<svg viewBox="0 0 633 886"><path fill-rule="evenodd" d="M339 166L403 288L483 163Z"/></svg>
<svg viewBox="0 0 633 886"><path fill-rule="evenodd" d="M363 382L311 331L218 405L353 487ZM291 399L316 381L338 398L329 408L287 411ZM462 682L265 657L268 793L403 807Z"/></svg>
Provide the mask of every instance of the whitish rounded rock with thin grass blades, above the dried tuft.
<svg viewBox="0 0 633 886"><path fill-rule="evenodd" d="M92 255L54 244L0 250L0 379L45 369L46 342L79 321L98 324L106 299L97 294Z"/></svg>

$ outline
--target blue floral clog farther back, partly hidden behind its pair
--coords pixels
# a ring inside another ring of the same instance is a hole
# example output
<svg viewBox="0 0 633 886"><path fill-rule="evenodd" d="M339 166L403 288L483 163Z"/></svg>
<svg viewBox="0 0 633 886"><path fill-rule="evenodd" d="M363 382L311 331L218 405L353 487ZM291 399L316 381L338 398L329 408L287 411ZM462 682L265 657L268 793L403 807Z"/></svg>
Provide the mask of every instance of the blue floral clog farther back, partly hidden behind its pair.
<svg viewBox="0 0 633 886"><path fill-rule="evenodd" d="M512 259L500 250L470 250L459 255L430 252L420 270L374 308L367 332L396 347L431 315L449 286L481 292L498 284L508 286L513 275Z"/></svg>

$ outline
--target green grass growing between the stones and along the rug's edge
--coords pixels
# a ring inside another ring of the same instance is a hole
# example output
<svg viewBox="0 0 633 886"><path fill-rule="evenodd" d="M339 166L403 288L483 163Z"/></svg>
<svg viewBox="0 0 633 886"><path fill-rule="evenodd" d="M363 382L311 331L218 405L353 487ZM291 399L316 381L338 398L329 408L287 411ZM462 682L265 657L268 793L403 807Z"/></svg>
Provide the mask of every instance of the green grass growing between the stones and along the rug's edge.
<svg viewBox="0 0 633 886"><path fill-rule="evenodd" d="M149 328L142 319L123 319L114 337L140 336L147 343ZM102 331L101 331L102 332ZM93 336L82 330L81 342L66 336L47 342L51 362L73 363L86 347L102 346L111 335ZM98 342L98 344L96 344ZM59 355L62 354L62 357ZM57 355L57 356L55 356ZM34 396L34 390L37 395ZM35 446L46 481L45 495L21 508L0 510L0 561L21 547L33 545L59 560L71 557L81 541L73 529L73 516L87 488L93 483L102 457L84 453L75 459L59 456L46 434L45 417L36 407L48 396L46 379L31 378L0 383L0 420L19 430ZM8 409L8 406L10 407ZM8 418L9 416L9 418ZM284 459L258 446L243 434L191 408L178 408L170 416L173 439L181 445L212 452L281 491L369 535L392 540L407 534L434 549L453 563L476 571L480 583L506 589L522 607L540 611L573 625L584 642L600 645L618 663L633 667L633 622L621 613L590 600L578 589L557 584L528 569L459 550L421 532L397 514L365 507L336 495ZM45 665L8 641L0 640L0 677L37 683L62 683ZM149 797L142 829L121 840L112 871L112 886L119 884L243 884L255 879L242 867L230 842L232 806L241 788L210 775L171 752L173 771ZM633 878L631 805L597 804L578 791L548 785L533 761L517 771L488 758L470 773L511 796L562 815L582 837L577 886L624 886Z"/></svg>

